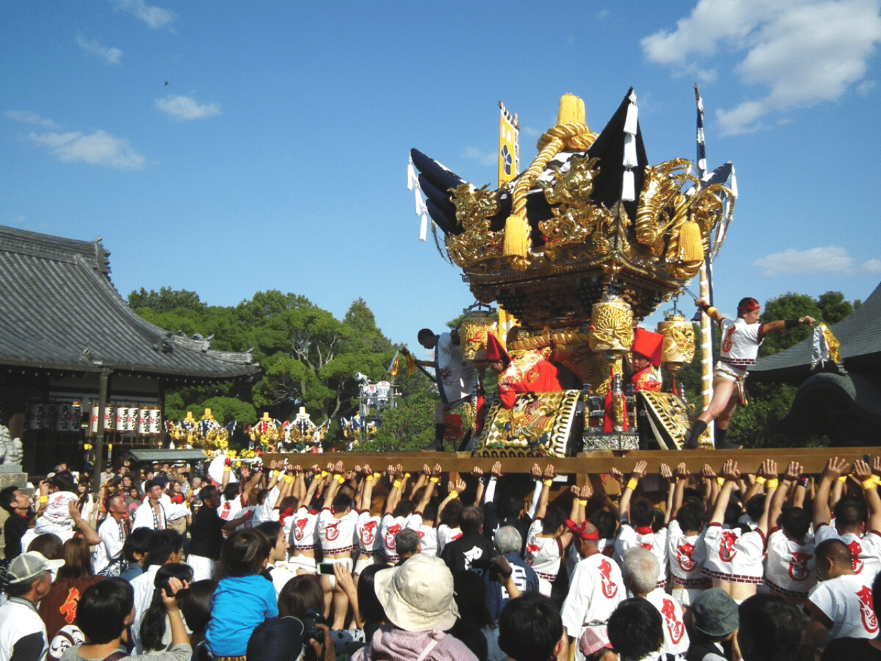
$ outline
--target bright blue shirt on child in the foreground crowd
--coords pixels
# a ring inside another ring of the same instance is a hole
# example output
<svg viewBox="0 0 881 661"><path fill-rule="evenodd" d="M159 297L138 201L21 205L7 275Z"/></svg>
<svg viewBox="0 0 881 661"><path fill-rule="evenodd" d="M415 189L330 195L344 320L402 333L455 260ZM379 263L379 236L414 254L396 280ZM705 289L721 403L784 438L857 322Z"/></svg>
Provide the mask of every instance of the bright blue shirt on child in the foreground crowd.
<svg viewBox="0 0 881 661"><path fill-rule="evenodd" d="M275 588L263 576L226 576L211 596L205 644L215 657L243 657L248 639L266 618L278 617Z"/></svg>

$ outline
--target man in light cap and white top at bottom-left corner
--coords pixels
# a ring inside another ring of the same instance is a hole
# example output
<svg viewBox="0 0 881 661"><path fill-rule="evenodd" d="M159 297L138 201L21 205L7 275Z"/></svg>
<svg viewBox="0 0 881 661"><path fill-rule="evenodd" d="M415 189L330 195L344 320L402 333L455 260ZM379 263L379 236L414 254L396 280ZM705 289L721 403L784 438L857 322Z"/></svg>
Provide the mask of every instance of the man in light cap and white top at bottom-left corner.
<svg viewBox="0 0 881 661"><path fill-rule="evenodd" d="M9 601L0 606L0 658L41 661L46 657L46 624L37 605L52 587L52 570L63 564L33 551L19 553L10 562L3 575Z"/></svg>

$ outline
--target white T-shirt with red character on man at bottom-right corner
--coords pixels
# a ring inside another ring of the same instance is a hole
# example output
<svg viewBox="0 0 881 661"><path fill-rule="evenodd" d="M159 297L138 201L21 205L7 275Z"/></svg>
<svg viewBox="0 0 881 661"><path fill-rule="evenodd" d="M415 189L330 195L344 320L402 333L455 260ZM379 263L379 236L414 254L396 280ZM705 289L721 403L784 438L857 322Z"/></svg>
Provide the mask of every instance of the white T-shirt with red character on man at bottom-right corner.
<svg viewBox="0 0 881 661"><path fill-rule="evenodd" d="M878 621L872 608L872 589L866 576L850 574L817 583L804 607L817 608L832 620L829 640L836 638L875 638ZM871 581L870 581L871 582Z"/></svg>

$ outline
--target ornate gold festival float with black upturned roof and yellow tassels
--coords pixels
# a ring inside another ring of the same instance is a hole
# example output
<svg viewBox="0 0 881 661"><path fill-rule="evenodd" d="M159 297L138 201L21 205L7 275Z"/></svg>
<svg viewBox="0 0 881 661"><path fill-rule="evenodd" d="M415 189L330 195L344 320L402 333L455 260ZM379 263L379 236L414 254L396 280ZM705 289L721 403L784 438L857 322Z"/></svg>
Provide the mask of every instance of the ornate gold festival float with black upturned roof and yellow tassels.
<svg viewBox="0 0 881 661"><path fill-rule="evenodd" d="M497 189L478 188L411 150L421 238L430 217L441 255L462 269L479 303L500 308L500 323L481 312L458 329L478 374L492 335L510 359L500 379L548 360L581 387L519 394L509 408L488 393L482 425L478 415L460 415L470 449L478 457L567 457L645 449L648 432L660 449L681 449L695 412L675 377L695 351L692 323L674 305L656 333L643 331L654 336L647 341L655 368L672 376L671 392L634 390L627 361L639 323L685 293L722 248L736 197L733 168L650 164L631 89L599 132L585 122L583 101L563 96L557 124L518 174L516 117L500 107ZM712 448L706 433L701 441Z"/></svg>

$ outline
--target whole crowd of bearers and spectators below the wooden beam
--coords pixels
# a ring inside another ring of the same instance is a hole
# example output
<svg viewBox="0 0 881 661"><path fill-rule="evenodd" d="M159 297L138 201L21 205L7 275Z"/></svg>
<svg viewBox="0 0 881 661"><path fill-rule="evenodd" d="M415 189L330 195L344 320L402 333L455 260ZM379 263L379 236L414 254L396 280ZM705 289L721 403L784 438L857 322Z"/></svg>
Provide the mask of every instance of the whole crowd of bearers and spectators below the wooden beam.
<svg viewBox="0 0 881 661"><path fill-rule="evenodd" d="M646 468L122 467L92 494L61 465L0 491L0 661L881 658L881 457Z"/></svg>

